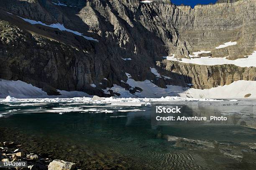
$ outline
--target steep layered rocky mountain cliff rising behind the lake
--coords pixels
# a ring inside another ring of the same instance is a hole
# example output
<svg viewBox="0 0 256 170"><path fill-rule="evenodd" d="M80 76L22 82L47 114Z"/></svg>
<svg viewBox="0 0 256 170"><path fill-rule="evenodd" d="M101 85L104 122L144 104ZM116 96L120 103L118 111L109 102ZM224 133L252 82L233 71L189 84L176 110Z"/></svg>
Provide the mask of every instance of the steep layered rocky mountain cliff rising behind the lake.
<svg viewBox="0 0 256 170"><path fill-rule="evenodd" d="M56 89L98 96L119 96L113 87L143 91L128 78L196 89L256 80L253 61L249 67L180 62L250 56L256 50L256 0L194 9L167 0L0 3L0 79L21 80L50 95L58 95ZM233 44L221 47L228 42Z"/></svg>

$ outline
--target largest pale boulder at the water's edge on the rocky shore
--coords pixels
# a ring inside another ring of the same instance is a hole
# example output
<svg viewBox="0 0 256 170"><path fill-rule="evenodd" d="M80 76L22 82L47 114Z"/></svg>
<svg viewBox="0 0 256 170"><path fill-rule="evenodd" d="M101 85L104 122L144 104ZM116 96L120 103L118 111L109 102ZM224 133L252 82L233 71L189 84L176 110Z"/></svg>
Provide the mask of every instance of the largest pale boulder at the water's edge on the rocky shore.
<svg viewBox="0 0 256 170"><path fill-rule="evenodd" d="M73 170L75 166L76 164L72 162L54 160L49 164L48 170Z"/></svg>

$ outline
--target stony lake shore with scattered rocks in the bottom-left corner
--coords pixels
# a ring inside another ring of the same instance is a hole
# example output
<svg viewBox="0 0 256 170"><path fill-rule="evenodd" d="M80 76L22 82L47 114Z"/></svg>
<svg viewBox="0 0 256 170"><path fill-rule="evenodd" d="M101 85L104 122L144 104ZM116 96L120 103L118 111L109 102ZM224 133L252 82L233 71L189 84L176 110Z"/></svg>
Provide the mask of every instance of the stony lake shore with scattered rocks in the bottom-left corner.
<svg viewBox="0 0 256 170"><path fill-rule="evenodd" d="M0 160L2 162L27 161L28 167L8 168L11 170L79 170L76 163L64 160L52 160L40 153L29 153L20 149L15 142L0 142ZM7 169L7 168L6 168Z"/></svg>

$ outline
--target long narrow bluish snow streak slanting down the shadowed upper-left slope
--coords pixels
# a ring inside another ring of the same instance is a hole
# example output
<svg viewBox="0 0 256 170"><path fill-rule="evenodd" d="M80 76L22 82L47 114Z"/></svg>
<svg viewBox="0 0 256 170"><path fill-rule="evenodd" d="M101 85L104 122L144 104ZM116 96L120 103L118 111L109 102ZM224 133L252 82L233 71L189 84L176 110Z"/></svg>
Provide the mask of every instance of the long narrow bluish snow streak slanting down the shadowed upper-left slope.
<svg viewBox="0 0 256 170"><path fill-rule="evenodd" d="M18 17L20 17L20 16L18 16ZM44 26L46 26L46 27L57 28L57 29L59 29L59 30L61 30L61 31L67 31L67 32L76 34L77 36L82 36L82 37L84 37L84 38L87 39L87 40L92 40L92 41L97 41L97 42L99 42L98 40L96 40L96 39L94 39L94 38L92 38L92 37L83 36L82 33L79 33L79 32L74 31L74 30L67 29L67 28L64 27L63 24L60 24L60 23L47 25L47 24L45 24L45 23L42 23L41 21L30 20L30 19L26 19L26 18L22 18L22 17L20 17L20 18L23 19L23 20L25 20L25 21L28 22L28 23L31 23L32 25L40 24L40 25L44 25Z"/></svg>

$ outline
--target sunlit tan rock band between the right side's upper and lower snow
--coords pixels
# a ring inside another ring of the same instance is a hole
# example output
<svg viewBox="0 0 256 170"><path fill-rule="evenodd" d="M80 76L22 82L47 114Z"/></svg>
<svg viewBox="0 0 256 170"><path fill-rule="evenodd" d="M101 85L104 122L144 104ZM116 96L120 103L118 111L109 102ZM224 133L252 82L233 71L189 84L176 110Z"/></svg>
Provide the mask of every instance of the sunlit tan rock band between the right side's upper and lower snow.
<svg viewBox="0 0 256 170"><path fill-rule="evenodd" d="M180 79L175 85L194 84L192 88L196 89L210 89L238 80L256 81L255 67L238 67L228 64L204 66L168 60L157 62L157 66L168 71L167 73L174 81L173 84L175 84L175 80Z"/></svg>

